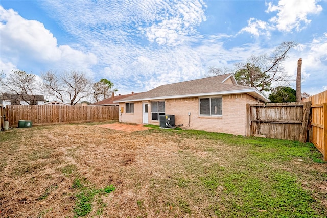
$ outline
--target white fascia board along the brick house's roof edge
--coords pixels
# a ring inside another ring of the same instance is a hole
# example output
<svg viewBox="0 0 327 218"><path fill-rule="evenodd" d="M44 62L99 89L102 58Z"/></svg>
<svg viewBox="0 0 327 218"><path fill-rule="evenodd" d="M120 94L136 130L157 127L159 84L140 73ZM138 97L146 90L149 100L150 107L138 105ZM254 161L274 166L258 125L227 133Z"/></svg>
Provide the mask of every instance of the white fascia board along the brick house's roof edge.
<svg viewBox="0 0 327 218"><path fill-rule="evenodd" d="M139 101L151 101L151 100L165 100L165 99L181 99L181 98L192 98L192 97L204 97L211 95L227 95L227 94L243 94L243 93L255 93L255 97L263 100L264 102L270 102L270 100L260 93L255 88L253 89L242 89L242 90L233 90L233 91L221 91L221 92L208 92L208 93L197 93L197 94L183 94L183 95L172 95L172 96L160 96L154 98L143 98L143 99L133 99L127 101L114 101L114 103L120 102L139 102Z"/></svg>

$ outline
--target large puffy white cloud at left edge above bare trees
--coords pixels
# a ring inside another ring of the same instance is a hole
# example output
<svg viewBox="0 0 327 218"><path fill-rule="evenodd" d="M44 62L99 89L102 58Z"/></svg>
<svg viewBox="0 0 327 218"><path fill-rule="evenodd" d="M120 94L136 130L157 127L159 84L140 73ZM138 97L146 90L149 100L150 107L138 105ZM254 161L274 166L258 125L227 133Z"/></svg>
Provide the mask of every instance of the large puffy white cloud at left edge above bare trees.
<svg viewBox="0 0 327 218"><path fill-rule="evenodd" d="M58 66L88 69L97 62L94 54L85 54L68 45L58 45L53 34L36 20L22 18L12 9L0 6L0 46L4 61L18 64L20 59ZM76 69L76 70L80 70ZM29 69L22 69L29 70Z"/></svg>

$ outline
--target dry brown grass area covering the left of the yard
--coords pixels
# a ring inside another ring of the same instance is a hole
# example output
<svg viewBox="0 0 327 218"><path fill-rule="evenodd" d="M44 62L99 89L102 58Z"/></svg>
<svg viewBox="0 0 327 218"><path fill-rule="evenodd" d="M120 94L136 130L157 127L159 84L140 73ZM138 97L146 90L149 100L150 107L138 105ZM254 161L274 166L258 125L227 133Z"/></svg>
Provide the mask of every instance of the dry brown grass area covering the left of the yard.
<svg viewBox="0 0 327 218"><path fill-rule="evenodd" d="M173 206L179 195L173 178L185 172L180 154L188 149L195 159L208 158L201 142L155 131L126 133L88 125L15 131L18 138L12 144L1 144L6 159L0 181L4 217L74 216L76 177L98 188L116 187L101 197L104 216L135 217L145 211L148 217L169 216L172 210L185 215ZM156 191L168 188L163 195ZM98 205L93 206L97 211Z"/></svg>

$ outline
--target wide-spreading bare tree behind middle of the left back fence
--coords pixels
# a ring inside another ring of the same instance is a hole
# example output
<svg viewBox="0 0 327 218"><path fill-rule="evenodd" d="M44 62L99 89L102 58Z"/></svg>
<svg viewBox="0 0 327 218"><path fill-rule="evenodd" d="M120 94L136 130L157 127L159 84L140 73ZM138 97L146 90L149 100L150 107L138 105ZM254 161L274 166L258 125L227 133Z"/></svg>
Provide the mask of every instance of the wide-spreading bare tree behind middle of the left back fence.
<svg viewBox="0 0 327 218"><path fill-rule="evenodd" d="M61 74L48 71L41 75L42 88L50 96L75 105L92 93L92 82L83 72L64 71Z"/></svg>

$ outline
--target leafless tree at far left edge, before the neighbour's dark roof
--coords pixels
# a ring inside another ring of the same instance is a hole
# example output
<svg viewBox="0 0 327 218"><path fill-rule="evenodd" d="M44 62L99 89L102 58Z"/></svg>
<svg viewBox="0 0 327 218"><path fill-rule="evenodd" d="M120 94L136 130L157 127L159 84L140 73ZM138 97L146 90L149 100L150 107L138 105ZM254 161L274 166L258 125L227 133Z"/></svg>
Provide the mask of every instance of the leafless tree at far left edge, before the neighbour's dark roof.
<svg viewBox="0 0 327 218"><path fill-rule="evenodd" d="M9 92L19 96L19 99L28 104L35 104L36 96L33 93L36 90L36 80L34 74L27 74L25 71L12 71L3 78L3 72L0 74L0 85L2 93Z"/></svg>

